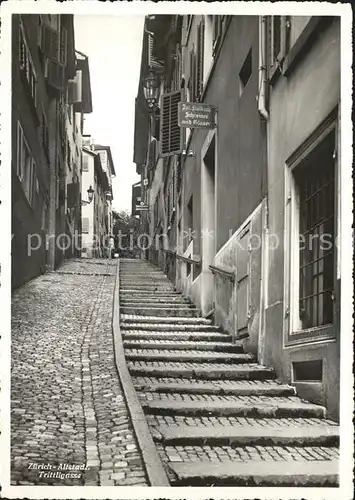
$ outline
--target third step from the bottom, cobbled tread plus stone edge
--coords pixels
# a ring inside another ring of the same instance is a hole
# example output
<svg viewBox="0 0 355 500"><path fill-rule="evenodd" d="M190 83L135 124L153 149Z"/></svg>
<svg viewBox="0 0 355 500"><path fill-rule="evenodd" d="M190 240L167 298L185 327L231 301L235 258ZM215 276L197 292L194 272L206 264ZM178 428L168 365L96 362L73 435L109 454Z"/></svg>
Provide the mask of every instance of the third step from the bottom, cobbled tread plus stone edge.
<svg viewBox="0 0 355 500"><path fill-rule="evenodd" d="M162 399L148 400L148 397L164 396L153 393L140 393L142 406L147 413L158 415L218 415L258 418L311 417L325 418L323 406L307 403L299 398L264 396L192 396L194 400L182 396L169 395Z"/></svg>

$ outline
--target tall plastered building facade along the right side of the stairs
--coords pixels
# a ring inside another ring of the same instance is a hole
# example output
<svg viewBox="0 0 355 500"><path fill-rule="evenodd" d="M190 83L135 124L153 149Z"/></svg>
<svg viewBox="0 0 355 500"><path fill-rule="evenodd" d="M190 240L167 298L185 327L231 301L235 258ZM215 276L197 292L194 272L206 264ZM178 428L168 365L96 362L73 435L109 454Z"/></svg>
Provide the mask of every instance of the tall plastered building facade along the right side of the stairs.
<svg viewBox="0 0 355 500"><path fill-rule="evenodd" d="M314 16L147 16L134 138L148 258L335 417L339 257L318 246L312 260L296 240L338 231L339 33L339 20ZM216 126L181 128L179 102L215 107ZM308 196L314 224L299 214Z"/></svg>

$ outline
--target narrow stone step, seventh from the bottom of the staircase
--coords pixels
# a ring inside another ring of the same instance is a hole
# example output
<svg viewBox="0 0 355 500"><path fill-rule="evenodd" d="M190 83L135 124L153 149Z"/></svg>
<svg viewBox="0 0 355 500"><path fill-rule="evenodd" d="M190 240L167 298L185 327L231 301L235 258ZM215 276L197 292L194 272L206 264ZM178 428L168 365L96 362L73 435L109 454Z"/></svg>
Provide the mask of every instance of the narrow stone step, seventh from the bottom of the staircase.
<svg viewBox="0 0 355 500"><path fill-rule="evenodd" d="M188 340L154 340L149 338L147 339L146 337L147 336L137 340L125 340L123 342L124 347L127 349L173 349L181 351L187 351L189 349L209 351L212 349L214 352L244 352L243 346L240 343L230 344L226 342L201 342L201 339L199 339L198 342L191 342Z"/></svg>

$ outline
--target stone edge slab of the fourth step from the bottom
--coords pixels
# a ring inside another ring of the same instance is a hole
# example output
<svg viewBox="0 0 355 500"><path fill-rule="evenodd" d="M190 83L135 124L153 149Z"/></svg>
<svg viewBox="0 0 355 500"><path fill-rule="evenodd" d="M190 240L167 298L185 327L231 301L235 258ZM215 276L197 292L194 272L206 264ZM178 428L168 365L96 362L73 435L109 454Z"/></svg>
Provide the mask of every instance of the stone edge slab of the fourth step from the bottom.
<svg viewBox="0 0 355 500"><path fill-rule="evenodd" d="M237 384L223 384L218 380L215 383L191 383L188 380L181 380L180 384L174 383L147 383L135 384L137 391L157 392L157 393L177 393L177 394L215 394L230 396L295 396L296 389L290 385L275 384L273 386L253 384L240 386Z"/></svg>

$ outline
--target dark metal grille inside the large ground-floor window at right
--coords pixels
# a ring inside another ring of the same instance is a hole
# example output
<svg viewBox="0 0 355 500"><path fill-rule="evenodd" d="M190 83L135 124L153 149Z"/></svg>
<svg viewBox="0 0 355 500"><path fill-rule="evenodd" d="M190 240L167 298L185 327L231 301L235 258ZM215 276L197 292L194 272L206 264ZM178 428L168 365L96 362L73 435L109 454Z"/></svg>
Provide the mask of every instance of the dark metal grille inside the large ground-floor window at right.
<svg viewBox="0 0 355 500"><path fill-rule="evenodd" d="M332 133L296 169L303 329L333 322L334 148Z"/></svg>

